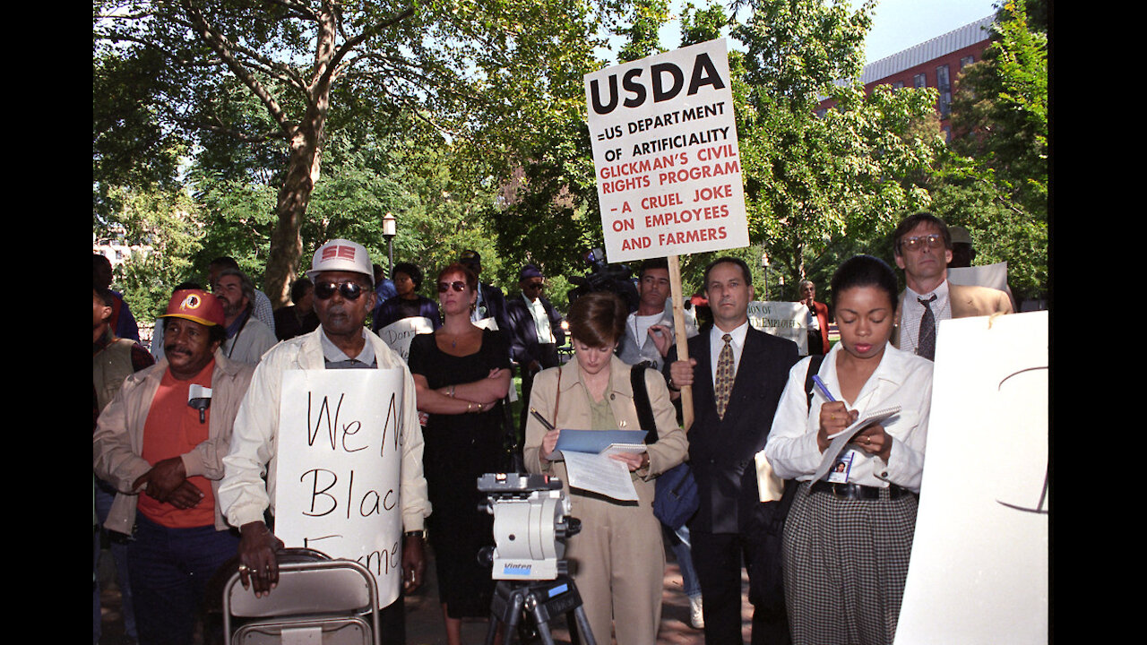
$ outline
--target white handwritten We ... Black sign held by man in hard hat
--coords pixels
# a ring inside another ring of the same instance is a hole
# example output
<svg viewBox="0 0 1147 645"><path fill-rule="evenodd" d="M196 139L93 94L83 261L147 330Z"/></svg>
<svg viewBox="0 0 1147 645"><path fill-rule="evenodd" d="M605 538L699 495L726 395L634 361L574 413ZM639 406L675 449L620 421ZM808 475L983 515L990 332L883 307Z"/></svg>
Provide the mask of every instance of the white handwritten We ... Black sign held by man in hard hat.
<svg viewBox="0 0 1147 645"><path fill-rule="evenodd" d="M385 607L401 585L403 371L289 370L282 388L275 535L357 560Z"/></svg>

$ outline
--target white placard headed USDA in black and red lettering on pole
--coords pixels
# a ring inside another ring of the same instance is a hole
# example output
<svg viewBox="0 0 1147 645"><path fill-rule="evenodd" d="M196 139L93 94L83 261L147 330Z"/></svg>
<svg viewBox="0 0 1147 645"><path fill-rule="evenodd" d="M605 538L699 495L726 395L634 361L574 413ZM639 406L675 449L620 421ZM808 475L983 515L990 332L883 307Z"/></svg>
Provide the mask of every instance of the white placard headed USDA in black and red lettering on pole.
<svg viewBox="0 0 1147 645"><path fill-rule="evenodd" d="M585 76L609 262L749 246L725 39Z"/></svg>

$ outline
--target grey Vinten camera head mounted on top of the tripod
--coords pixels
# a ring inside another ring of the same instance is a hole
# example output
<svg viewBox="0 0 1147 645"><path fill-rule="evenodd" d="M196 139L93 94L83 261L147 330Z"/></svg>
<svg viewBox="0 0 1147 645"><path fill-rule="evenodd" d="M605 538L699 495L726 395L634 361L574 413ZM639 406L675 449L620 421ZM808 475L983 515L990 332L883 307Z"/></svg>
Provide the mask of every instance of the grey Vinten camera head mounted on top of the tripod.
<svg viewBox="0 0 1147 645"><path fill-rule="evenodd" d="M582 530L582 522L570 516L561 480L486 473L478 491L487 494L479 511L494 516L494 546L481 555L493 565L493 580L555 580L568 573L563 541Z"/></svg>

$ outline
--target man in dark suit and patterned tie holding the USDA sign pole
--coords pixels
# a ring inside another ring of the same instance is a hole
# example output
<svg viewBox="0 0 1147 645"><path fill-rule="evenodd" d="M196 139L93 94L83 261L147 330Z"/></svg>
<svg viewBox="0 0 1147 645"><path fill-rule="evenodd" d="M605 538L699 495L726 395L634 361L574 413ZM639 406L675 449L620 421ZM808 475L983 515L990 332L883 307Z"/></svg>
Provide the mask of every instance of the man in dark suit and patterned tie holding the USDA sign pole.
<svg viewBox="0 0 1147 645"><path fill-rule="evenodd" d="M693 387L689 465L701 506L689 521L693 565L701 581L707 645L741 644L741 562L749 576L762 522L775 502L762 504L754 456L765 448L773 413L797 347L749 326L748 265L721 257L705 269L713 322L688 341L688 362L666 357L670 389ZM725 393L725 394L721 394ZM788 643L785 612L756 609L752 643Z"/></svg>

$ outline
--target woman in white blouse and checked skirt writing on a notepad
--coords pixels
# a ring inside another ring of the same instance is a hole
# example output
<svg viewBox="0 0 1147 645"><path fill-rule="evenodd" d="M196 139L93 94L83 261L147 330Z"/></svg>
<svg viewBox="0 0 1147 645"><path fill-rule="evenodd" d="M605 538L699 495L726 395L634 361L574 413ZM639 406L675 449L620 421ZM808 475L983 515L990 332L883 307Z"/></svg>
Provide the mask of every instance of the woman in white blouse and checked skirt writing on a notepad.
<svg viewBox="0 0 1147 645"><path fill-rule="evenodd" d="M781 396L765 454L799 489L785 524L785 595L795 645L892 642L912 552L933 364L889 344L892 269L856 256L837 269L832 304L841 341L805 391L810 359ZM829 398L830 397L830 398ZM860 430L813 482L830 436L860 415L899 407Z"/></svg>

